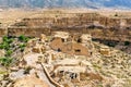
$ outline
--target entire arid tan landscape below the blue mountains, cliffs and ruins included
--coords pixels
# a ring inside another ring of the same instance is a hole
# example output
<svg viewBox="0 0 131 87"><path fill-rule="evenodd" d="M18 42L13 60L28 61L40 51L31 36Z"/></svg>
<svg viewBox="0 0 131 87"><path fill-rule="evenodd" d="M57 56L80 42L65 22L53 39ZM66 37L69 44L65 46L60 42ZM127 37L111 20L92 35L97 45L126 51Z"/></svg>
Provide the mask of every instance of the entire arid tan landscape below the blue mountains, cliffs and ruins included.
<svg viewBox="0 0 131 87"><path fill-rule="evenodd" d="M0 10L0 87L130 86L130 11Z"/></svg>

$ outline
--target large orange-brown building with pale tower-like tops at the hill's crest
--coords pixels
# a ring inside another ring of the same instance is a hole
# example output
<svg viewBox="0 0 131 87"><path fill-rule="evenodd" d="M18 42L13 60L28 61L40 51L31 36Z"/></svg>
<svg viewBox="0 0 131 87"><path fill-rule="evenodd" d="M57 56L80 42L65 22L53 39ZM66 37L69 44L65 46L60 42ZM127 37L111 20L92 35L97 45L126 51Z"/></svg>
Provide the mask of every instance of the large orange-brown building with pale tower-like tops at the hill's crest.
<svg viewBox="0 0 131 87"><path fill-rule="evenodd" d="M70 37L70 34L63 32L57 32L56 35L53 35L53 37L55 38L50 44L51 49L69 54L87 55L87 57L91 55L90 50L87 48L88 44L92 41L91 36L83 35L82 42L74 41L74 38ZM72 40L68 41L68 39L72 39L73 41ZM78 37L78 39L80 38ZM87 44L87 45L85 46L83 44L85 45Z"/></svg>

